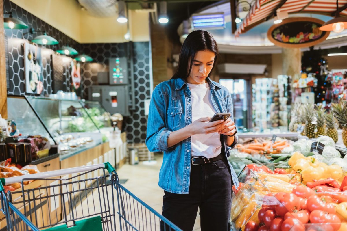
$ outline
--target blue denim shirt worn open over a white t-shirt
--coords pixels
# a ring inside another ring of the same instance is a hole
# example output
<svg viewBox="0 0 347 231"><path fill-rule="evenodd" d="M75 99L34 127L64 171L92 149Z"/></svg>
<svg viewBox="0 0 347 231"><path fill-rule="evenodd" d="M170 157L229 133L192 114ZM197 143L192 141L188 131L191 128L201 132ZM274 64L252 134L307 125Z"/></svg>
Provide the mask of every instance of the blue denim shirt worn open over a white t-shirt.
<svg viewBox="0 0 347 231"><path fill-rule="evenodd" d="M211 88L212 103L217 112L231 113L232 99L229 91L219 83L206 79ZM159 186L170 193L188 194L191 172L192 137L168 148L168 137L172 131L192 123L192 97L187 83L181 79L171 79L155 87L149 108L146 145L151 152L164 152L159 172ZM222 154L230 156L230 150L238 141L227 146L227 137L221 134ZM229 163L229 161L228 161ZM229 163L232 181L239 186L235 170Z"/></svg>

